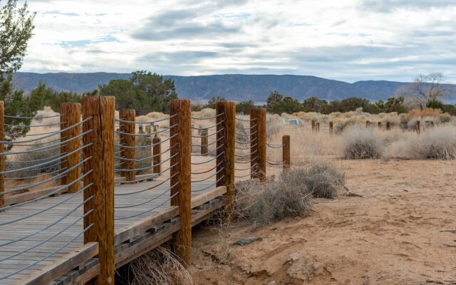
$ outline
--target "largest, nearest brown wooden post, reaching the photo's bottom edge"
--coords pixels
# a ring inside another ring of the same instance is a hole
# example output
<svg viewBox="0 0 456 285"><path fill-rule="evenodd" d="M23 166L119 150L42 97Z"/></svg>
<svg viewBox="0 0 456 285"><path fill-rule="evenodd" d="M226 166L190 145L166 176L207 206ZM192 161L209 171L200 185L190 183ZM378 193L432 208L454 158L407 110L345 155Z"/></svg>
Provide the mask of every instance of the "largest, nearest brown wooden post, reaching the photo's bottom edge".
<svg viewBox="0 0 456 285"><path fill-rule="evenodd" d="M100 275L88 284L114 284L114 112L114 97L83 97L83 119L91 118L83 131L92 130L83 135L84 185L92 184L84 191L84 213L93 210L84 217L85 229L93 224L84 244L98 242L100 260Z"/></svg>

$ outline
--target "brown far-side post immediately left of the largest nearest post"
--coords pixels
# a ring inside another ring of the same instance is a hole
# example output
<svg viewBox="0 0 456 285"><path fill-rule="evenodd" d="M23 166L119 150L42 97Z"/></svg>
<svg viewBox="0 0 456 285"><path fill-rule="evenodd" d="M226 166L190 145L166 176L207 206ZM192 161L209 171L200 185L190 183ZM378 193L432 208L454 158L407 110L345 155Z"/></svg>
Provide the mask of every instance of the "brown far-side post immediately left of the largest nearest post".
<svg viewBox="0 0 456 285"><path fill-rule="evenodd" d="M61 103L60 104L60 113L61 113L61 129L70 128L72 125L77 125L81 122L81 104L80 103ZM61 146L61 153L64 152L70 153L78 150L81 147L81 139L77 138L78 135L81 135L81 126L78 125L70 130L66 130L62 133L61 141L67 141L64 145ZM73 167L73 170L70 170L66 173L65 176L61 177L61 185L67 185L78 179L81 176L81 167L76 167L81 161L81 152L75 152L73 155L69 155L64 158L61 162L62 172ZM81 183L73 183L68 186L68 192L75 193L81 189Z"/></svg>

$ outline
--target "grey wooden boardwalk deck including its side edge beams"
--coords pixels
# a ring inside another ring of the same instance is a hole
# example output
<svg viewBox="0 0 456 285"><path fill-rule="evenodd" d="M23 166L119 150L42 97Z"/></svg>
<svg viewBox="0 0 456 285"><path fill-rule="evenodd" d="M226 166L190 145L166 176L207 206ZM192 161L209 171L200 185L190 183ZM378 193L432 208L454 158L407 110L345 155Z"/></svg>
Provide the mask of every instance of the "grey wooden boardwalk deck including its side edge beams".
<svg viewBox="0 0 456 285"><path fill-rule="evenodd" d="M170 219L178 214L178 209L177 207L170 207L169 182L163 183L153 190L134 195L123 195L152 187L160 184L160 182L162 180L115 186L116 267L127 263L153 247L157 247L157 245L170 239L170 233L179 229L178 221L175 221L174 224L170 222ZM192 183L192 208L201 207L204 203L208 204L214 199L217 200L217 197L220 199L226 192L225 187L209 187L213 184L213 180ZM153 200L142 204L150 199ZM82 202L82 193L76 195L63 194L23 204L0 213L0 244L21 239L0 247L0 284L16 284L21 279L40 272L44 266L52 264L64 255L81 247L83 245ZM135 204L142 205L130 207ZM214 209L221 207L221 204L207 206L205 210L199 212L195 210L196 214L192 222L199 222ZM81 206L78 207L78 205ZM50 207L51 209L48 209ZM75 208L76 210L73 211ZM43 211L44 209L48 210ZM144 227L144 224L141 223L141 221L147 220L146 217L155 217L153 221L148 222L148 227ZM23 220L16 221L21 218ZM10 221L16 222L8 224ZM50 225L51 227L48 227ZM137 226L138 229L135 229ZM155 230L151 232L150 228L152 227ZM160 229L167 229L163 237L160 237ZM35 232L38 233L28 237ZM153 237L154 233L157 237ZM147 239L149 239L148 242ZM30 249L31 247L33 249ZM130 247L133 248L130 249ZM26 252L23 252L24 250ZM53 284L74 284L81 280L90 279L95 276L97 270L99 271L97 262L97 259L91 259L90 262L86 262L86 266L80 266L78 270L64 274ZM16 273L25 266L29 267Z"/></svg>

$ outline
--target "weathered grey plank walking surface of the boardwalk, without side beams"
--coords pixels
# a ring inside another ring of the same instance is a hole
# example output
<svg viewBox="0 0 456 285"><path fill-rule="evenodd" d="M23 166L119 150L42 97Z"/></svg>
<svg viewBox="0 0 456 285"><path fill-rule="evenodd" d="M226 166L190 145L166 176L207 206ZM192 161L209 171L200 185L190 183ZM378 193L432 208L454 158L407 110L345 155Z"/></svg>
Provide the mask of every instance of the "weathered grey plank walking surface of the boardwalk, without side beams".
<svg viewBox="0 0 456 285"><path fill-rule="evenodd" d="M116 234L123 232L123 229L125 229L125 227L128 227L135 222L140 221L144 217L157 214L157 212L160 211L166 212L166 209L171 209L170 192L167 190L169 188L169 183L165 183L153 190L141 192L135 195L122 195L128 192L137 192L138 190L144 190L148 187L152 187L153 185L160 184L160 182L162 181L154 180L151 182L140 182L133 185L124 184L115 186L115 195L118 195L116 196L117 199L115 199ZM204 199L204 196L209 192L214 192L214 187L210 187L209 189L205 188L213 184L214 181L210 180L207 182L193 183L192 200L197 201L195 198L199 197L199 203L205 202L206 199ZM223 190L219 191L217 195L221 194L223 194ZM153 201L142 204L138 207L128 207L129 205L146 202L149 199L153 199ZM51 264L53 261L58 260L65 254L68 254L69 252L72 252L73 250L76 250L78 247L81 247L83 245L83 234L81 234L83 229L81 219L83 217L83 207L78 207L82 201L83 197L81 193L77 195L63 194L57 197L48 197L46 199L41 199L38 202L14 207L0 214L1 224L9 222L11 220L27 217L24 220L14 222L10 224L9 227L4 227L2 229L0 235L1 244L10 242L12 240L21 239L29 234L33 234L42 229L45 229L42 232L33 235L33 237L28 237L19 242L14 242L4 247L0 247L0 259L5 259L6 257L11 257L12 255L17 254L16 257L0 261L1 276L12 274L19 269L24 268L25 265L31 265L30 268L21 271L19 274L14 274L8 279L2 280L1 284L14 284L20 279L38 272L40 269L43 269L44 266ZM53 207L54 205L56 206ZM48 209L49 207L53 208L47 210L46 212L39 213L41 210ZM76 211L68 213L69 209L76 207L78 207ZM60 219L63 217L63 213L68 214L68 218L60 221ZM28 217L31 215L32 217ZM125 217L130 218L125 219ZM48 225L53 226L46 229ZM60 231L62 231L61 234L58 234ZM57 236L53 237L56 234ZM75 237L76 239L74 239ZM45 242L47 239L51 239L51 242ZM21 249L30 247L35 248L21 254ZM59 248L62 249L59 250L56 254L52 254L54 251L56 251L56 249ZM51 257L48 257L49 254L52 254ZM39 261L40 259L45 260ZM125 264L125 261L128 260L130 259L124 259L122 264ZM36 263L37 261L39 262ZM76 281L77 276L78 272L74 271L73 277L68 275L62 276L59 281L54 282L54 284L68 284L69 281Z"/></svg>

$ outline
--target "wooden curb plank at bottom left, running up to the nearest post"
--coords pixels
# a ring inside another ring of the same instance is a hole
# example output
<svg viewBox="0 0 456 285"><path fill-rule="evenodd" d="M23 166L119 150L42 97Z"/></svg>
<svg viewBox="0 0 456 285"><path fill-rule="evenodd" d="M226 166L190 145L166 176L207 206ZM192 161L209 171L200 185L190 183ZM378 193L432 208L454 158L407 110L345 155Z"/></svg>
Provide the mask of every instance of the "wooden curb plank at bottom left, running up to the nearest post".
<svg viewBox="0 0 456 285"><path fill-rule="evenodd" d="M79 264L82 264L83 262L88 261L88 259L95 257L97 254L98 242L90 242L88 244L84 244L79 249L66 254L64 257L61 257L61 259L58 259L52 264L44 266L38 271L38 273L33 274L26 279L21 279L15 284L47 284L48 282L57 279L63 274L68 273L68 271L71 271Z"/></svg>

